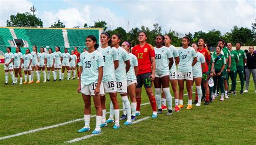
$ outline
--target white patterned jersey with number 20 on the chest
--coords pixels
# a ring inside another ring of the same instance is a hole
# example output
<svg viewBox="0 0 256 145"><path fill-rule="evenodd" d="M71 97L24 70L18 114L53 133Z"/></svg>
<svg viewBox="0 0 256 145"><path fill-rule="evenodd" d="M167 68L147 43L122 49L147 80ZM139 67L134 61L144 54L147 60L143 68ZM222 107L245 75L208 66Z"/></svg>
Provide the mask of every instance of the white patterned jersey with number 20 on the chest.
<svg viewBox="0 0 256 145"><path fill-rule="evenodd" d="M172 58L172 52L167 47L161 48L154 47L154 53L156 54L156 74L169 74L169 58Z"/></svg>

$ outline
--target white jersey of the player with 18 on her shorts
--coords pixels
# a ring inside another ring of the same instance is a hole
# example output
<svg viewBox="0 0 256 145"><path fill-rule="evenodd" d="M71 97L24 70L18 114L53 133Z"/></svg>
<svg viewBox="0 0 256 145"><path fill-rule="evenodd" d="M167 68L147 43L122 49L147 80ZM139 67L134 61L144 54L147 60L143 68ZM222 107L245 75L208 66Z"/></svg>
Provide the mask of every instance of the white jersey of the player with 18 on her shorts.
<svg viewBox="0 0 256 145"><path fill-rule="evenodd" d="M98 48L98 51L102 53L103 60L105 63L105 66L103 68L103 82L108 81L116 81L116 76L114 74L114 61L118 60L118 52L116 47L106 47L105 49L102 49L102 47Z"/></svg>

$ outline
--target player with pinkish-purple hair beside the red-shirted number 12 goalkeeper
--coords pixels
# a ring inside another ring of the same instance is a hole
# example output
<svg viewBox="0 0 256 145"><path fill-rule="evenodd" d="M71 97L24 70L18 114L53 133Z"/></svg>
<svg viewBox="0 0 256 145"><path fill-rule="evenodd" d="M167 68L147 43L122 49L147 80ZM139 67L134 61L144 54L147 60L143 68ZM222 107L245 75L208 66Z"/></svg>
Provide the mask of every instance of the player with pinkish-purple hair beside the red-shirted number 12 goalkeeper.
<svg viewBox="0 0 256 145"><path fill-rule="evenodd" d="M126 78L127 78L127 91L128 94L130 96L131 99L131 111L132 111L132 121L136 119L136 107L137 107L137 101L136 101L136 96L135 96L135 90L136 90L136 85L137 85L137 74L139 71L138 68L138 59L136 56L134 56L131 53L131 44L129 42L124 42L122 44L122 47L128 52L129 54L129 59L130 59L130 70L129 72L126 73ZM124 108L124 104L123 104L123 111L124 111L124 115L125 117L126 115L126 111Z"/></svg>

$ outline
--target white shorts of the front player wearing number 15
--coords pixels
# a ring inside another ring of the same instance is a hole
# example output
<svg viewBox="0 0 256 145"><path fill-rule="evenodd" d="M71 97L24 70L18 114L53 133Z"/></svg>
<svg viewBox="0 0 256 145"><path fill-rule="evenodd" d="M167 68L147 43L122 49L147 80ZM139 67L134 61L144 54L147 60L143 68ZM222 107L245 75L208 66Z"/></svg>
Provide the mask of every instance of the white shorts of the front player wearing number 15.
<svg viewBox="0 0 256 145"><path fill-rule="evenodd" d="M95 88L97 87L97 82L94 82L90 85L84 85L83 82L81 81L81 93L85 94L85 95L95 95L94 91ZM99 95L104 95L104 87L103 84L100 85L99 87Z"/></svg>

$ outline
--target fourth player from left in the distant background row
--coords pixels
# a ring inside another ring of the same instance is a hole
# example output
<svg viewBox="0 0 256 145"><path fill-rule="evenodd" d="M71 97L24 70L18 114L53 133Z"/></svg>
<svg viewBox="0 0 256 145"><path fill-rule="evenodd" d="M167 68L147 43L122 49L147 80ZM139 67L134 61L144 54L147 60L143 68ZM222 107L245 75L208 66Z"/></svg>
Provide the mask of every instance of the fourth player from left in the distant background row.
<svg viewBox="0 0 256 145"><path fill-rule="evenodd" d="M37 46L33 46L32 47L33 51L30 53L31 56L32 56L32 64L31 64L31 68L32 68L32 71L31 71L31 82L33 83L33 78L34 78L34 70L36 70L36 77L37 77L37 81L36 83L40 83L39 81L39 73L38 73L38 61L39 61L39 57L37 56Z"/></svg>

